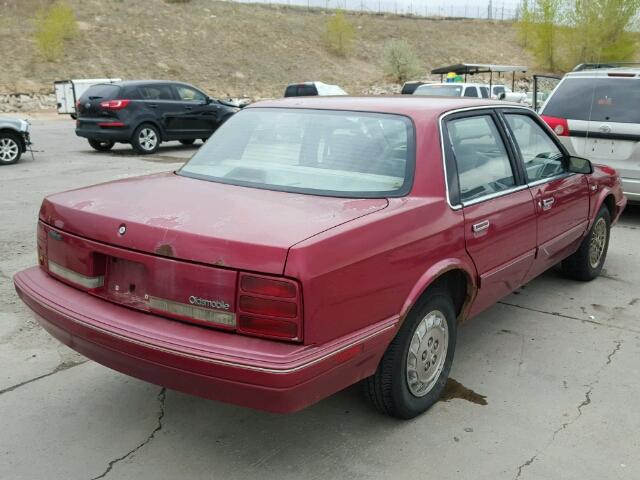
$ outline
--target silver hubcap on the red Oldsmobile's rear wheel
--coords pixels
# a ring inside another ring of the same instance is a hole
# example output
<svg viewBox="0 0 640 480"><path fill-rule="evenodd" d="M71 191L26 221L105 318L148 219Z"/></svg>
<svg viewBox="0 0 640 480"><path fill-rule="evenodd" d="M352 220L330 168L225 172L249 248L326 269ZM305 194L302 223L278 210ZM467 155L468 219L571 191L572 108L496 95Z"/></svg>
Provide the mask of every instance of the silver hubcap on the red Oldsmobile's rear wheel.
<svg viewBox="0 0 640 480"><path fill-rule="evenodd" d="M407 353L407 385L423 397L435 385L444 368L449 348L449 327L439 310L429 312L418 324Z"/></svg>

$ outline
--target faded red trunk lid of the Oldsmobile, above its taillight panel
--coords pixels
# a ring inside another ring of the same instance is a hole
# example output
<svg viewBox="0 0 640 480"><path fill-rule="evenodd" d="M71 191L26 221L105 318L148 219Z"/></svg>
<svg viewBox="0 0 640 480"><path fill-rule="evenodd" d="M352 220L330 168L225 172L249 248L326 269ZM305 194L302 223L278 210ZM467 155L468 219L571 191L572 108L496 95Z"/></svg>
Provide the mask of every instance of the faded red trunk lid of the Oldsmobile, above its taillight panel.
<svg viewBox="0 0 640 480"><path fill-rule="evenodd" d="M51 195L40 219L126 250L279 275L292 245L386 206L163 173Z"/></svg>

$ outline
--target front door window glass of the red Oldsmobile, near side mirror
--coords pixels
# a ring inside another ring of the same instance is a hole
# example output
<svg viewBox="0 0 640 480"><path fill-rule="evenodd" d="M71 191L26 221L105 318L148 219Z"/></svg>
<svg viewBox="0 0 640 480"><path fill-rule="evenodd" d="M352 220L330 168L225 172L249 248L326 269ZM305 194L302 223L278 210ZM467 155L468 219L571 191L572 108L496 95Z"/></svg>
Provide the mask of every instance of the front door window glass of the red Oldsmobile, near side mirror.
<svg viewBox="0 0 640 480"><path fill-rule="evenodd" d="M566 172L563 153L536 121L528 115L505 115L524 163L527 181L535 182Z"/></svg>

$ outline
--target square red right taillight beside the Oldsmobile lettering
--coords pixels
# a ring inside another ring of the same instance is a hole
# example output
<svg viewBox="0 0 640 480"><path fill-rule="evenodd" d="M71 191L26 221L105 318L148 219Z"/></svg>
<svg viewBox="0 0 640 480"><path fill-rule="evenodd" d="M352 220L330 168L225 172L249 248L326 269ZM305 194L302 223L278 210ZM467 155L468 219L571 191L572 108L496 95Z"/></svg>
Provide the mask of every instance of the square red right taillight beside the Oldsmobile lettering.
<svg viewBox="0 0 640 480"><path fill-rule="evenodd" d="M302 340L302 293L297 282L241 273L238 283L238 333Z"/></svg>

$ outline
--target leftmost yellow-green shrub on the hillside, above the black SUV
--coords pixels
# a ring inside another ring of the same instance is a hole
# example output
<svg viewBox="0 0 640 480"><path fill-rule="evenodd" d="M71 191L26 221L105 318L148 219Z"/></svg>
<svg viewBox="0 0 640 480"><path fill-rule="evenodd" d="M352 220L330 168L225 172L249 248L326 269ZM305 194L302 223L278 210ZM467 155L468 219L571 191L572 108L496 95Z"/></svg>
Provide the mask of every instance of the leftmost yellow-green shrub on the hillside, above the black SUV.
<svg viewBox="0 0 640 480"><path fill-rule="evenodd" d="M64 42L78 34L73 8L65 1L57 1L36 13L35 43L40 54L49 61L64 54Z"/></svg>

